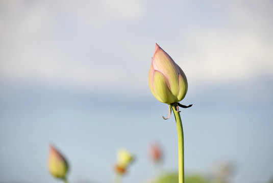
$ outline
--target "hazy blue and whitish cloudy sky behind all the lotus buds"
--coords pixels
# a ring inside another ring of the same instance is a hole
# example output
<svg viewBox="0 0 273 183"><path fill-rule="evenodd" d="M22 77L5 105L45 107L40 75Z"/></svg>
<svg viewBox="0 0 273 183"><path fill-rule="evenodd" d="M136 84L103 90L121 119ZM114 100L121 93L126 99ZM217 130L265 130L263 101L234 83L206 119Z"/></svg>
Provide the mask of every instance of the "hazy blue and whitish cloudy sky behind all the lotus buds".
<svg viewBox="0 0 273 183"><path fill-rule="evenodd" d="M116 150L136 157L124 182L154 176L148 144L178 169L175 119L147 77L155 43L183 69L186 174L234 165L231 182L273 178L272 1L0 2L0 182L112 182Z"/></svg>

